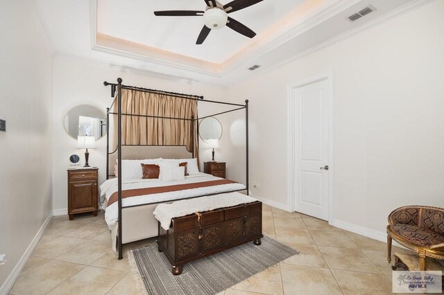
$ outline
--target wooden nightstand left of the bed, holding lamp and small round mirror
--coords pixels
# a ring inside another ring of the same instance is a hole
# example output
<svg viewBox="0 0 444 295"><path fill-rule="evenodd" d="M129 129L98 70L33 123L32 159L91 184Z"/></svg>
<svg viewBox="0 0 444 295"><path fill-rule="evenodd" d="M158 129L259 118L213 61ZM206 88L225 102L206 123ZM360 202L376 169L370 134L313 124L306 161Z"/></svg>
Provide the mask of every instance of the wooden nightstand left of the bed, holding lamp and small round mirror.
<svg viewBox="0 0 444 295"><path fill-rule="evenodd" d="M68 215L92 212L99 209L99 168L68 169Z"/></svg>

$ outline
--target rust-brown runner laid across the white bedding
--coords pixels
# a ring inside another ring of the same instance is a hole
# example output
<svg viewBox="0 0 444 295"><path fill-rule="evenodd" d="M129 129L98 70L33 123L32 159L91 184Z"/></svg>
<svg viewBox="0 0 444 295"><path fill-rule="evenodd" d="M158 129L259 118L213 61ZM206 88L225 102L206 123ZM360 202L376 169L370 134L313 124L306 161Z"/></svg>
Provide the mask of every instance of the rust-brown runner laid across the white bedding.
<svg viewBox="0 0 444 295"><path fill-rule="evenodd" d="M135 188L133 190L122 190L122 199L126 197L136 197L142 195L153 195L160 193L169 193L177 190L190 190L192 188L206 188L207 186L220 186L221 184L237 184L236 181L228 179L219 179L212 181L196 182L193 184L176 184L175 186L156 186L154 188ZM117 202L119 192L113 193L108 200L108 206Z"/></svg>

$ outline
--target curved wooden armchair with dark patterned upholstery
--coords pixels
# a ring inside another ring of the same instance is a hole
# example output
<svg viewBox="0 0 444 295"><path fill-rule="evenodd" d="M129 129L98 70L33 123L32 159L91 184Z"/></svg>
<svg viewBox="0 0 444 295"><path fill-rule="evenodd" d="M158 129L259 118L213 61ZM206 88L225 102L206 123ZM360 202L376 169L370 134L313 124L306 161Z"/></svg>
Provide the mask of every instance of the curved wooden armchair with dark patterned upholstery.
<svg viewBox="0 0 444 295"><path fill-rule="evenodd" d="M387 260L391 262L392 239L418 253L420 270L425 258L444 259L444 208L404 206L388 215Z"/></svg>

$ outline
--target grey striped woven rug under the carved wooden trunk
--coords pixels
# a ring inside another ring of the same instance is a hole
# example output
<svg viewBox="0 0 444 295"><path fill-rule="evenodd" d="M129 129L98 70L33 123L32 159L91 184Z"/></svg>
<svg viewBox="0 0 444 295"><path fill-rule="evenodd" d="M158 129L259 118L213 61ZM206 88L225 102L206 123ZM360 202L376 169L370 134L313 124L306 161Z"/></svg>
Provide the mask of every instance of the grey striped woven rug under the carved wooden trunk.
<svg viewBox="0 0 444 295"><path fill-rule="evenodd" d="M217 294L276 265L298 251L273 240L262 238L253 242L189 262L180 276L171 274L171 263L157 244L128 251L137 289L142 294Z"/></svg>

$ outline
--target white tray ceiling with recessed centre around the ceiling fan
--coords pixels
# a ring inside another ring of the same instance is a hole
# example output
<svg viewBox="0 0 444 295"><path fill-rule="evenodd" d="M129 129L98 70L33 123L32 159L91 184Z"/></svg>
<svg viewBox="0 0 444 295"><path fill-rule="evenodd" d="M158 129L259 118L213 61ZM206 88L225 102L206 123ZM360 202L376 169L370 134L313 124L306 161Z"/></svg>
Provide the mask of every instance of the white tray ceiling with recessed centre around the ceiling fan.
<svg viewBox="0 0 444 295"><path fill-rule="evenodd" d="M196 45L196 39L203 17L155 17L153 11L205 10L203 0L35 2L58 55L162 77L228 84L418 1L264 0L230 14L257 33L253 39L225 27L212 30L202 45ZM348 21L369 4L374 12ZM248 71L253 64L262 67Z"/></svg>

